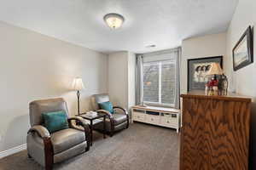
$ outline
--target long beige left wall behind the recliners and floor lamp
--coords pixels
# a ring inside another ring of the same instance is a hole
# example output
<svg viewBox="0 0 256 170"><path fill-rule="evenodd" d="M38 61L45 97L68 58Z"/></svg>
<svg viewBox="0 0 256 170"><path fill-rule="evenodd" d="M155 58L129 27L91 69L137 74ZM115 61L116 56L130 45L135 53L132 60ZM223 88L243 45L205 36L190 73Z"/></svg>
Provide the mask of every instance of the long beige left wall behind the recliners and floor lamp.
<svg viewBox="0 0 256 170"><path fill-rule="evenodd" d="M90 109L91 94L108 91L107 55L3 22L0 37L0 151L26 144L30 101L63 97L74 115L74 77L84 80L81 111Z"/></svg>

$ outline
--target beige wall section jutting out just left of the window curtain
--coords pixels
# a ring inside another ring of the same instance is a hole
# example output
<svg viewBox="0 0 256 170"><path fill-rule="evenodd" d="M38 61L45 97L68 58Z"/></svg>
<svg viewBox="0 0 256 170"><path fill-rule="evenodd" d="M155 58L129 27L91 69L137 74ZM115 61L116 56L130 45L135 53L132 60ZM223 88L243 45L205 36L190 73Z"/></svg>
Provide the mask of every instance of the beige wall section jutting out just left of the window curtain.
<svg viewBox="0 0 256 170"><path fill-rule="evenodd" d="M108 93L113 105L130 109L135 105L135 54L108 54Z"/></svg>

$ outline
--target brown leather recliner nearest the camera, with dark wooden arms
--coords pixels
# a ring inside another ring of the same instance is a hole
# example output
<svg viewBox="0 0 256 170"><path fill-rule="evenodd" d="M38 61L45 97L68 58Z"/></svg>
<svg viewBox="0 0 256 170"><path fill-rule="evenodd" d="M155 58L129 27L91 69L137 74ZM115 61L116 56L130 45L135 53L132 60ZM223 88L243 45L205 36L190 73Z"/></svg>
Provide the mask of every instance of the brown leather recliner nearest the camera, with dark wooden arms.
<svg viewBox="0 0 256 170"><path fill-rule="evenodd" d="M49 133L43 126L41 115L50 111L65 111L68 117L67 103L64 99L36 100L29 104L31 128L26 137L28 156L47 170L52 169L53 163L64 161L90 149L90 129L82 117L68 118L69 128ZM84 131L73 126L72 120L79 122Z"/></svg>

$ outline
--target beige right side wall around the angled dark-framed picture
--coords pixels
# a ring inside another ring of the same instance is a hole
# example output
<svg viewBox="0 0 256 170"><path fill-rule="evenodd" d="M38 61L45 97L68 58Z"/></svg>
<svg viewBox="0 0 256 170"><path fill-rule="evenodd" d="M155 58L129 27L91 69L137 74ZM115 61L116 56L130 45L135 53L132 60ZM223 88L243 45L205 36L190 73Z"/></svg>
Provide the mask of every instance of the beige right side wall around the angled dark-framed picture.
<svg viewBox="0 0 256 170"><path fill-rule="evenodd" d="M253 144L256 142L256 39L254 33L254 46L253 46L253 54L254 54L254 62L251 65L247 65L244 68L241 68L238 71L233 71L232 65L232 48L236 45L236 42L240 39L241 35L244 31L246 31L247 26L256 26L256 1L254 0L241 0L239 1L236 12L233 16L233 19L230 22L230 28L227 32L227 57L224 59L224 68L228 73L230 82L232 83L231 88L236 90L238 94L244 94L248 96L252 96L254 99L253 102L253 128L252 128L252 136L253 136ZM254 27L255 32L255 27ZM253 156L256 156L256 148L253 147ZM255 168L255 167L254 167ZM254 169L252 168L252 169Z"/></svg>

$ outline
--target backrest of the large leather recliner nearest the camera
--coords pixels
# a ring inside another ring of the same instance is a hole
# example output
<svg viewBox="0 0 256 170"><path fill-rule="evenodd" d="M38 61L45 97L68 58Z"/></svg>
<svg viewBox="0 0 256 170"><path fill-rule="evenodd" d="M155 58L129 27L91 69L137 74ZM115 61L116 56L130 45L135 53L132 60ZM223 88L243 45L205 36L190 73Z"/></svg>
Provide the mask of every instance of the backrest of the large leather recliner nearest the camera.
<svg viewBox="0 0 256 170"><path fill-rule="evenodd" d="M68 116L67 103L62 98L35 100L29 104L30 124L41 125L42 114L51 111L65 111Z"/></svg>

